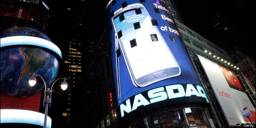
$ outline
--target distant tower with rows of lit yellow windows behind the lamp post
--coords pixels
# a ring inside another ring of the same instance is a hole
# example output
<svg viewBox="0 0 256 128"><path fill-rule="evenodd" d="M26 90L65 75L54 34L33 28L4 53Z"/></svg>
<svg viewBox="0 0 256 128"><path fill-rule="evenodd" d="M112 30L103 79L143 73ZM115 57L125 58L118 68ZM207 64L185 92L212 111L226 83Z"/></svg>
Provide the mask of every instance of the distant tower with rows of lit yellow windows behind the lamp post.
<svg viewBox="0 0 256 128"><path fill-rule="evenodd" d="M81 73L82 73L82 42L79 39L72 39L66 43L66 50L64 53L64 63L63 69L60 73L64 73L66 78L68 78L68 88L67 91L62 92L64 96L59 97L61 101L59 104L62 104L60 108L54 108L55 110L61 109L60 113L56 115L56 122L60 121L58 126L70 126L73 121L77 118L75 115L75 107L78 107L76 100L79 97L76 97L75 90L79 88L79 82L81 82Z"/></svg>

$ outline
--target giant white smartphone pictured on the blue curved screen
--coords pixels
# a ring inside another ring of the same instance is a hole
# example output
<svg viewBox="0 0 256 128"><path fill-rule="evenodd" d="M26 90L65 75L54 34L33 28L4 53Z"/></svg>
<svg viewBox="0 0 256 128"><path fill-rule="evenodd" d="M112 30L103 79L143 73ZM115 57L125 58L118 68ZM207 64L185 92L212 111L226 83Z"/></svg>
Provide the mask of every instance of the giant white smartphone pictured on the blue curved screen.
<svg viewBox="0 0 256 128"><path fill-rule="evenodd" d="M159 33L156 20L152 20L142 4L130 4L118 9L114 12L112 22L118 38L116 49L120 46L136 87L148 86L181 74L177 61ZM118 63L117 56L117 69Z"/></svg>

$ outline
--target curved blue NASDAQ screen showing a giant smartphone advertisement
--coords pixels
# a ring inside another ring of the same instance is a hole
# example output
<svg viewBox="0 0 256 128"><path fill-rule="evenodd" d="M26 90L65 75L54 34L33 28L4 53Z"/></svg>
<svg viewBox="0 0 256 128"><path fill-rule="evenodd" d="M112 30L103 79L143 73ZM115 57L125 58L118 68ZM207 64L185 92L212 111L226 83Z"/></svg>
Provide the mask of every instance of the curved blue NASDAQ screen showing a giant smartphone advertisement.
<svg viewBox="0 0 256 128"><path fill-rule="evenodd" d="M166 100L173 104L208 102L163 2L110 0L106 6L122 116L140 106Z"/></svg>

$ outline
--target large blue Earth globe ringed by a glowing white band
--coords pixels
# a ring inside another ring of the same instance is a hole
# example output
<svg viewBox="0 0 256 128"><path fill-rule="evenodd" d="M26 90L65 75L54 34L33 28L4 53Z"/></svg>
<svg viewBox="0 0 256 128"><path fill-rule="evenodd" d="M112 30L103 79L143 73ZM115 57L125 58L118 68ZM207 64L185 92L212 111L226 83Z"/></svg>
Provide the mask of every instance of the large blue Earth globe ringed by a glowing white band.
<svg viewBox="0 0 256 128"><path fill-rule="evenodd" d="M31 73L40 74L49 87L62 59L60 49L44 33L26 27L12 27L2 31L1 93L13 97L36 95L44 90L44 83L29 86Z"/></svg>

